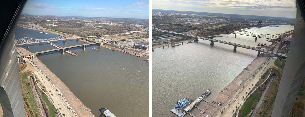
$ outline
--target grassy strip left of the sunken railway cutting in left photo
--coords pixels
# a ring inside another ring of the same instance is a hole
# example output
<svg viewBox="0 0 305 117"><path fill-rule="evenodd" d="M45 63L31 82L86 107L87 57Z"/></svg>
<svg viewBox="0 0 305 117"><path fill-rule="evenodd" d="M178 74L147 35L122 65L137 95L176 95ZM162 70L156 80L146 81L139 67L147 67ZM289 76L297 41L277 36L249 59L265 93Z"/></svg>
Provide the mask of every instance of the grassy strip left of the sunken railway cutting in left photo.
<svg viewBox="0 0 305 117"><path fill-rule="evenodd" d="M32 107L34 114L37 115L38 117L40 117L40 114L39 114L39 111L38 111L38 106L37 106L37 103L35 101L35 97L34 97L32 89L31 89L31 86L30 86L30 81L27 78L27 73L28 72L23 74L21 85L23 86L24 95L26 95L27 100L29 101L29 104Z"/></svg>

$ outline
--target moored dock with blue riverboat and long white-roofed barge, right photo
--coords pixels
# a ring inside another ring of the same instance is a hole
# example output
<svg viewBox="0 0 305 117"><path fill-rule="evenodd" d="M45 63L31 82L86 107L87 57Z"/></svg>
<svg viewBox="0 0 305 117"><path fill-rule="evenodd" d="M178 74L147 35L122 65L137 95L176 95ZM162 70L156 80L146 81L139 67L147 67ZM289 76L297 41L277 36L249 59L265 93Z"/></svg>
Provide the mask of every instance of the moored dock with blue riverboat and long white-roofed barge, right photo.
<svg viewBox="0 0 305 117"><path fill-rule="evenodd" d="M188 101L187 99L182 98L180 101L177 101L174 108L170 109L170 112L173 112L179 117L183 117L184 115L186 115L186 113L188 113L188 111L190 111L193 107L195 107L201 100L206 101L203 98L206 98L211 92L212 90L210 89L206 90L206 92L204 92L199 98L195 100Z"/></svg>

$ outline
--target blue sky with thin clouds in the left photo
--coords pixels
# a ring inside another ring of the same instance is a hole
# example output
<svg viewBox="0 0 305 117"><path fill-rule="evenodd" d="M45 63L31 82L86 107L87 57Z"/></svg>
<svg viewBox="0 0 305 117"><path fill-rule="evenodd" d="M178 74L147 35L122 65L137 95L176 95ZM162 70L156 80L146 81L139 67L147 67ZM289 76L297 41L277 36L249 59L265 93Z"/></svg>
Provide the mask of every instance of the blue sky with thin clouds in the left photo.
<svg viewBox="0 0 305 117"><path fill-rule="evenodd" d="M149 0L27 0L22 14L149 19Z"/></svg>

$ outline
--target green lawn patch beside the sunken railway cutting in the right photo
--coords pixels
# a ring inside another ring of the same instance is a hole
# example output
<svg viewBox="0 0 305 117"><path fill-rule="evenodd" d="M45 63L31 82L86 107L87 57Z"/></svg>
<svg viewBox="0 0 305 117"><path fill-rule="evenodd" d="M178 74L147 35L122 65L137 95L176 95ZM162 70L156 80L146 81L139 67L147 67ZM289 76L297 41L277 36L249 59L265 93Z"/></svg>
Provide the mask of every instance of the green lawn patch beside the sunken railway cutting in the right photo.
<svg viewBox="0 0 305 117"><path fill-rule="evenodd" d="M242 117L247 116L251 112L251 106L255 100L257 100L258 94L253 94L247 101L245 101L242 107L241 115Z"/></svg>

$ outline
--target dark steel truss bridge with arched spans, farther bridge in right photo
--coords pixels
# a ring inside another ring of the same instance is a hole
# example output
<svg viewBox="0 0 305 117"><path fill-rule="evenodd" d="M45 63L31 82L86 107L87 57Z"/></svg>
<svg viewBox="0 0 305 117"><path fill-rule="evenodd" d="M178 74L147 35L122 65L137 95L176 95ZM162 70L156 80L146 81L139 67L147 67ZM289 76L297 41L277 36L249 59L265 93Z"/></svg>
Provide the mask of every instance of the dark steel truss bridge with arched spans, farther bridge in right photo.
<svg viewBox="0 0 305 117"><path fill-rule="evenodd" d="M181 24L175 24L175 23L167 23L167 24L171 24L171 25L175 25L175 26L183 26L183 27L189 27L188 29L201 29L201 30L210 30L210 31L218 31L218 32L224 32L224 33L232 33L235 34L240 34L240 35L246 35L246 36L251 36L251 37L255 37L255 41L257 39L257 37L259 38L265 38L265 39L271 39L271 40L278 40L278 41L282 41L282 39L278 36L275 35L271 35L271 34L260 34L260 35L256 35L253 34L251 32L247 32L247 31L238 31L235 32L234 30L231 29L226 29L226 28L222 28L219 30L213 30L213 29L206 29L206 28L199 28L199 27L192 27L192 26L187 26L187 25L181 25ZM186 28L164 28L162 30L166 30L166 29L186 29ZM284 41L284 42L289 42L289 41Z"/></svg>

